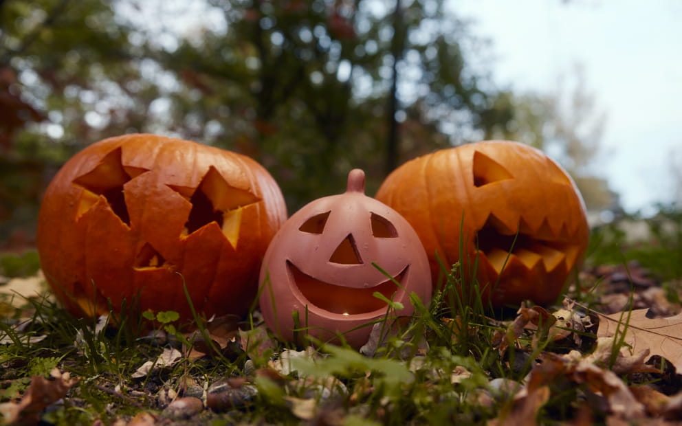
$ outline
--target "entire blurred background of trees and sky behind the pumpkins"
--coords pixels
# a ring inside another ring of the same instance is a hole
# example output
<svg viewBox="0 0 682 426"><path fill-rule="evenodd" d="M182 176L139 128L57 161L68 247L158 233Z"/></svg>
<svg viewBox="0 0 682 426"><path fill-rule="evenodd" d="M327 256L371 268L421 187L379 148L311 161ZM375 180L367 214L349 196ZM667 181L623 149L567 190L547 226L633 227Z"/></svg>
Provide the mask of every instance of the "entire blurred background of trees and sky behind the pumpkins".
<svg viewBox="0 0 682 426"><path fill-rule="evenodd" d="M64 161L133 132L254 157L290 213L351 168L373 194L494 138L557 159L593 223L655 215L682 197L679 19L663 0L0 0L0 250L32 247Z"/></svg>

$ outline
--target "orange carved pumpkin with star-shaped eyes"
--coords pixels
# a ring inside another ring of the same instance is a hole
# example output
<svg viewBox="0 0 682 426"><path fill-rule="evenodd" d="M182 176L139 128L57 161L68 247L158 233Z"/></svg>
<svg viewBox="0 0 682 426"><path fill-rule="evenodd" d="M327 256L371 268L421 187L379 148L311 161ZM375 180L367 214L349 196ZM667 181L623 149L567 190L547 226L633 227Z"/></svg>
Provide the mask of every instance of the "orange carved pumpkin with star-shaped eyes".
<svg viewBox="0 0 682 426"><path fill-rule="evenodd" d="M45 277L75 315L140 309L245 313L261 259L286 220L256 161L155 135L88 146L59 170L39 214ZM130 305L129 305L130 306Z"/></svg>

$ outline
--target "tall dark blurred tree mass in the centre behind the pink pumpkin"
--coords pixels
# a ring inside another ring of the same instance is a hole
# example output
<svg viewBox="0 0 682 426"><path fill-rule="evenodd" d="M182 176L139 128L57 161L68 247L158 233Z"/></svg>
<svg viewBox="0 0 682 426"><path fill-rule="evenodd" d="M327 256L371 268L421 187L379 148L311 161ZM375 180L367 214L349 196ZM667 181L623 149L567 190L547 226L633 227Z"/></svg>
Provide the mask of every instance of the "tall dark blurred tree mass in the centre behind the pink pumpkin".
<svg viewBox="0 0 682 426"><path fill-rule="evenodd" d="M182 82L164 111L173 130L263 162L290 207L342 190L352 167L366 169L371 192L407 159L407 122L429 130L410 155L491 124L497 93L463 53L479 41L441 1L210 5L223 28L198 23L171 49L148 38L147 56Z"/></svg>

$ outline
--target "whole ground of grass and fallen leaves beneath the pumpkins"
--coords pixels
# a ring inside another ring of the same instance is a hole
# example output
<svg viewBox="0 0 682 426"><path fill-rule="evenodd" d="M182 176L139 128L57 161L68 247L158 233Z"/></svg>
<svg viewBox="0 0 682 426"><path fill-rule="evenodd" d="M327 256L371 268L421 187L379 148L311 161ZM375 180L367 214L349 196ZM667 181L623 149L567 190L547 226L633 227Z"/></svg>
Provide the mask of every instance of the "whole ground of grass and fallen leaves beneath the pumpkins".
<svg viewBox="0 0 682 426"><path fill-rule="evenodd" d="M283 344L258 311L188 332L173 313L146 333L77 319L34 254L15 256L4 270L25 277L0 283L0 424L679 424L682 245L611 237L563 303L493 312L437 296L360 350Z"/></svg>

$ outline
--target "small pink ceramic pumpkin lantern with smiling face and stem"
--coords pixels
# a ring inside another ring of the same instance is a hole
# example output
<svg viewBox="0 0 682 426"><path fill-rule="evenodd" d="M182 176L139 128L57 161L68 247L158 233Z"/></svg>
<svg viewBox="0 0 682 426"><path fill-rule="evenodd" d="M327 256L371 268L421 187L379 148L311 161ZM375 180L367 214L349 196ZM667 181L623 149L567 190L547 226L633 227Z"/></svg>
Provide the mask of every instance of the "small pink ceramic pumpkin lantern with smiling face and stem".
<svg viewBox="0 0 682 426"><path fill-rule="evenodd" d="M342 333L355 348L375 320L411 315L410 293L428 303L432 292L419 237L395 210L364 194L360 169L349 173L344 194L312 201L284 223L265 252L261 285L265 323L281 338L305 343L296 336L307 333L334 341ZM404 307L388 311L375 292ZM296 326L303 330L295 333Z"/></svg>

